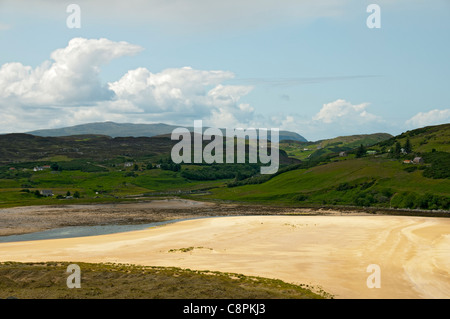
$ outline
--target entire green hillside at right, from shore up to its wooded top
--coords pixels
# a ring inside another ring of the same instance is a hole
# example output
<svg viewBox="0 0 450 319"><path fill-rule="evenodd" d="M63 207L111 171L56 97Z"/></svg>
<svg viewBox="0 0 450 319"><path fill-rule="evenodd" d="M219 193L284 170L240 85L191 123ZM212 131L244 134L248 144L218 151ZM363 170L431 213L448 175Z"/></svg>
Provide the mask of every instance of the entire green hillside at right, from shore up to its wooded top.
<svg viewBox="0 0 450 319"><path fill-rule="evenodd" d="M450 209L450 125L405 132L370 147L376 154L356 158L328 154L312 167L294 166L265 182L213 190L210 198L289 205L354 205ZM390 144L410 139L408 154L394 154ZM332 144L333 142L331 142ZM328 144L330 145L330 144ZM287 150L288 154L291 154ZM405 164L422 157L421 164ZM305 165L303 165L305 166ZM296 168L297 167L297 168ZM245 184L245 183L241 183Z"/></svg>

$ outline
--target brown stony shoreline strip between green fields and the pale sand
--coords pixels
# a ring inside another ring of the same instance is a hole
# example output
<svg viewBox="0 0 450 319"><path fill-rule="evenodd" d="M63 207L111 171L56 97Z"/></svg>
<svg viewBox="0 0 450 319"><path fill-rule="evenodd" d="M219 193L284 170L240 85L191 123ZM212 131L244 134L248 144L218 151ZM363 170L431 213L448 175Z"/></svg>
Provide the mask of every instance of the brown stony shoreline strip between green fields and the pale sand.
<svg viewBox="0 0 450 319"><path fill-rule="evenodd" d="M150 201L20 206L0 209L0 236L21 235L72 226L139 225L214 216L373 215L355 209L211 203L171 198Z"/></svg>

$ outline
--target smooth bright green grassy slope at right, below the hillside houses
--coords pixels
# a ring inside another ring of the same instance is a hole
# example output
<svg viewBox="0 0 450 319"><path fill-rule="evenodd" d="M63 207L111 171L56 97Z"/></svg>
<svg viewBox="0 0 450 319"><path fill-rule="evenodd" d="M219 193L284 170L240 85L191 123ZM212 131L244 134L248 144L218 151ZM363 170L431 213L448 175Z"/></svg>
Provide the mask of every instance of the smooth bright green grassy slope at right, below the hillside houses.
<svg viewBox="0 0 450 319"><path fill-rule="evenodd" d="M450 180L429 179L422 171L408 173L399 160L361 158L341 160L311 169L300 169L281 174L266 183L235 188L214 189L216 199L250 202L298 203L296 196L305 194L308 202L322 204L332 200L336 204L349 204L358 189L346 192L336 190L342 183L351 185L376 180L372 190L392 189L394 192L425 191L449 195Z"/></svg>

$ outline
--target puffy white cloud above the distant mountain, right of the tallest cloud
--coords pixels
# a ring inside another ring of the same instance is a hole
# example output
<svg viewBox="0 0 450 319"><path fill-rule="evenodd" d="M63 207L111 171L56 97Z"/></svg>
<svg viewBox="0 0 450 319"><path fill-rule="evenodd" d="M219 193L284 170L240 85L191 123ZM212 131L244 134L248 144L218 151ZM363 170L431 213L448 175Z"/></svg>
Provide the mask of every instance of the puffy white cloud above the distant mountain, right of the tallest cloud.
<svg viewBox="0 0 450 319"><path fill-rule="evenodd" d="M183 122L205 119L212 125L217 120L238 121L254 111L250 105L239 103L252 90L251 86L222 84L232 78L233 73L220 70L184 67L152 73L138 68L109 83L109 88L117 101L131 102L147 114L166 114Z"/></svg>

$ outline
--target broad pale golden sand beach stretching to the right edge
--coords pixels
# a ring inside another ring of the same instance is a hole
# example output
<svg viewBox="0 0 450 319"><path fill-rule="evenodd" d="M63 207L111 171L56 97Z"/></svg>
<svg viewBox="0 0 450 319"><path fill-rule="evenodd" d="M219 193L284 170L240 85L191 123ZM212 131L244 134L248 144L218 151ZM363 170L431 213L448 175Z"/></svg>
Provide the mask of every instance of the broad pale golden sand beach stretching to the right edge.
<svg viewBox="0 0 450 319"><path fill-rule="evenodd" d="M187 247L196 248L169 252ZM236 272L319 286L335 298L450 298L450 219L205 218L128 233L1 243L0 260ZM381 288L367 287L370 264L381 267Z"/></svg>

